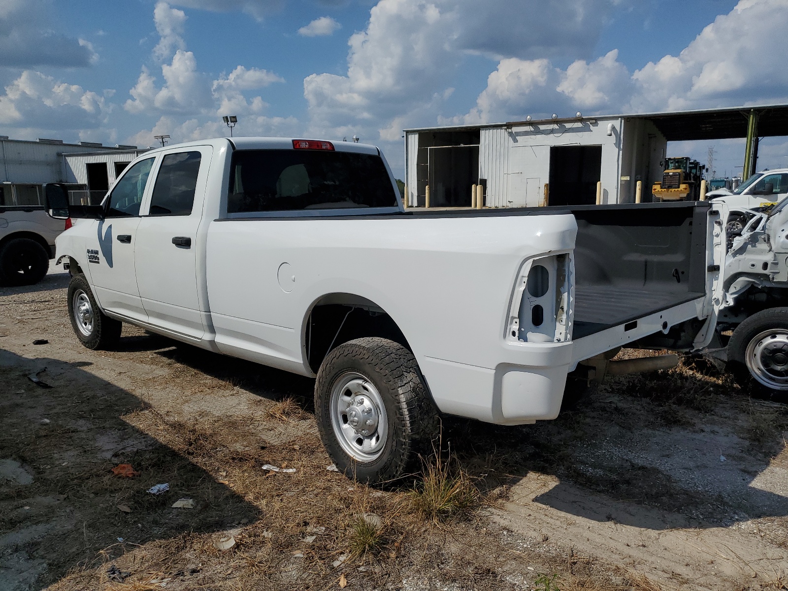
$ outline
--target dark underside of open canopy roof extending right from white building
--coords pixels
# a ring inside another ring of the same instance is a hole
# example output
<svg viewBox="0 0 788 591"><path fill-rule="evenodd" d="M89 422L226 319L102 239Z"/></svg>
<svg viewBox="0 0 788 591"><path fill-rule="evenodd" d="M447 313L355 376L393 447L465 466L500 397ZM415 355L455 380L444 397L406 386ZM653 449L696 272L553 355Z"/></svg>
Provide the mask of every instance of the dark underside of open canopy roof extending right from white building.
<svg viewBox="0 0 788 591"><path fill-rule="evenodd" d="M663 133L667 141L678 142L693 139L745 138L748 135L750 114L753 112L758 120L758 136L788 136L788 105L654 113L629 117L649 119Z"/></svg>

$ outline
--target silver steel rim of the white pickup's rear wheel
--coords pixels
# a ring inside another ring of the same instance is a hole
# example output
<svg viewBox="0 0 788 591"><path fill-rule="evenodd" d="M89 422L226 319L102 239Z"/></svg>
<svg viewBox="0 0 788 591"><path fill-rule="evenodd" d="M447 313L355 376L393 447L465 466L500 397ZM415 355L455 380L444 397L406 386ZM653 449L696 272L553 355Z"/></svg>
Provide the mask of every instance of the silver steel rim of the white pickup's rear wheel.
<svg viewBox="0 0 788 591"><path fill-rule="evenodd" d="M374 462L388 435L388 417L375 385L355 371L340 375L331 388L331 425L345 453L357 462Z"/></svg>

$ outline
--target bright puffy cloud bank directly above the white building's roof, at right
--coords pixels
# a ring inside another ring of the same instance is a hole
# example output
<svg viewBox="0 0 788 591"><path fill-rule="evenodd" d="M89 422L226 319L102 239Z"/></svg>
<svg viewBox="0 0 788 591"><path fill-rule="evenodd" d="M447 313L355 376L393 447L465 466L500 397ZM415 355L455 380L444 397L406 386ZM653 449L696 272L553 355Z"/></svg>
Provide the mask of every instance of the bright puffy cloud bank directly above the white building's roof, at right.
<svg viewBox="0 0 788 591"><path fill-rule="evenodd" d="M678 56L666 55L630 73L618 51L566 70L548 60L506 58L468 113L440 119L479 123L574 110L649 112L785 102L788 47L759 35L788 28L788 0L741 0L716 17Z"/></svg>

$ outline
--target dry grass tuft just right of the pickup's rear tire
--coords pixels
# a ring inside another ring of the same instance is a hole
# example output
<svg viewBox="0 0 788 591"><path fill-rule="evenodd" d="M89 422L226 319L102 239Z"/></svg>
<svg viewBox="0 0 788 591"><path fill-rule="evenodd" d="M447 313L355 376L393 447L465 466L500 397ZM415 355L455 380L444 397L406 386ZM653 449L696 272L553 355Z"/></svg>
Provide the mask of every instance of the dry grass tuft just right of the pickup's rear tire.
<svg viewBox="0 0 788 591"><path fill-rule="evenodd" d="M436 454L422 463L422 478L411 498L424 519L437 523L462 518L480 506L481 493L455 455L443 459Z"/></svg>

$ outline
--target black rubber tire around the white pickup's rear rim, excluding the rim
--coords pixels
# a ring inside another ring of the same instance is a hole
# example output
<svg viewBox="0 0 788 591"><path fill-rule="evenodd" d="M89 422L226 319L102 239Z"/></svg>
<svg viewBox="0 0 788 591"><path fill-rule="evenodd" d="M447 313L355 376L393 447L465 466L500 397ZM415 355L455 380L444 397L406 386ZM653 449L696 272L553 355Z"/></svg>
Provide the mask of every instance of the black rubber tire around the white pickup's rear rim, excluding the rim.
<svg viewBox="0 0 788 591"><path fill-rule="evenodd" d="M359 461L349 454L340 443L342 433L333 424L332 392L348 376L370 381L385 407L385 441L371 460ZM348 341L326 355L314 385L314 409L320 437L336 468L368 484L394 481L418 469L419 455L431 453L440 434L437 407L413 354L377 336Z"/></svg>

